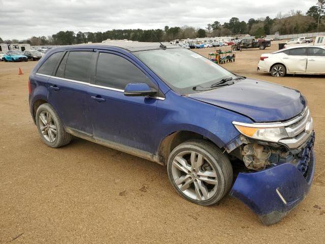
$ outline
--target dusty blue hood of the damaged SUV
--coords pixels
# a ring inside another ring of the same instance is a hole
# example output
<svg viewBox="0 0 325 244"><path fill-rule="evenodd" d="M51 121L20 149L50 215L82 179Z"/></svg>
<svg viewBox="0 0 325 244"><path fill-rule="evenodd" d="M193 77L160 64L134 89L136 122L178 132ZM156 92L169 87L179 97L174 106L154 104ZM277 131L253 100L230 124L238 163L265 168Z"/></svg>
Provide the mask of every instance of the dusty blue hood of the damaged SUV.
<svg viewBox="0 0 325 244"><path fill-rule="evenodd" d="M293 118L307 104L298 90L253 79L240 80L229 86L188 97L235 111L259 123Z"/></svg>

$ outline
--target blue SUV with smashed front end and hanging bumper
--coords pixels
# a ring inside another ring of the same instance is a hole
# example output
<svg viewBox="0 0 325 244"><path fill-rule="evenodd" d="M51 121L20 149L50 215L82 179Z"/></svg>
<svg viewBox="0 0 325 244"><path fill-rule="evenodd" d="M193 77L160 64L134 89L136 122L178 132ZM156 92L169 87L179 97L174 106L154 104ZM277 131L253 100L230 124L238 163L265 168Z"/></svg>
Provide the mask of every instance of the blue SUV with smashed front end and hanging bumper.
<svg viewBox="0 0 325 244"><path fill-rule="evenodd" d="M304 199L314 175L313 120L298 90L179 46L51 49L30 74L29 108L50 147L76 136L166 165L183 198L208 206L229 193L266 225Z"/></svg>

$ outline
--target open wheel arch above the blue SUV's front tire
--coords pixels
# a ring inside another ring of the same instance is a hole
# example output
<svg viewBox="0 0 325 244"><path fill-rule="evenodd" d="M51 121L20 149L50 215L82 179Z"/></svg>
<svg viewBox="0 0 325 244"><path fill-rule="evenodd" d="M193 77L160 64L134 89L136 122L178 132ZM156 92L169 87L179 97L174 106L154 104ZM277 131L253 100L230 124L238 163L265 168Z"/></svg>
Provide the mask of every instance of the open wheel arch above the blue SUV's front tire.
<svg viewBox="0 0 325 244"><path fill-rule="evenodd" d="M159 143L159 147L158 147L159 162L163 163L164 165L167 165L167 160L171 151L179 144L191 139L204 139L213 143L218 148L221 148L220 145L218 145L220 143L217 143L214 139L206 137L203 134L204 133L198 133L198 132L188 131L188 130L180 130L180 131L174 131L173 133L167 135Z"/></svg>

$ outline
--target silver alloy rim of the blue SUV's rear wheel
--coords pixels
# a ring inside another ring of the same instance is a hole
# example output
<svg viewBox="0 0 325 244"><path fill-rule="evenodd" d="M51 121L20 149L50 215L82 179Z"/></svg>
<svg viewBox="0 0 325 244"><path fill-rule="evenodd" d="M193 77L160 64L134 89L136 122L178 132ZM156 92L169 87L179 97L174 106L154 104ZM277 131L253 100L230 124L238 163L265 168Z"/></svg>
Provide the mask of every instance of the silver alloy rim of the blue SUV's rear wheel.
<svg viewBox="0 0 325 244"><path fill-rule="evenodd" d="M54 119L47 111L42 111L39 116L39 127L43 137L49 141L54 142L57 136L57 128Z"/></svg>

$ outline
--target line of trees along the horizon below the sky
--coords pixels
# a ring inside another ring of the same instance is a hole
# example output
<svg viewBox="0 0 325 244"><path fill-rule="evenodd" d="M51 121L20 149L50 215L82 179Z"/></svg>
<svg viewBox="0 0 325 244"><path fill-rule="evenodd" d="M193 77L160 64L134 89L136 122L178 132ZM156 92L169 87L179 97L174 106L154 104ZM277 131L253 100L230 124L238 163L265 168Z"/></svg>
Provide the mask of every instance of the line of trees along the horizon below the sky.
<svg viewBox="0 0 325 244"><path fill-rule="evenodd" d="M28 40L2 40L0 43L29 43L33 46L42 45L71 45L88 42L102 42L112 40L132 40L140 42L171 41L175 39L194 39L203 37L235 36L250 34L263 37L279 33L280 35L299 34L325 31L325 0L318 0L315 6L303 14L301 11L291 10L286 14L279 13L276 18L254 19L247 22L232 17L228 22L221 24L218 21L207 24L205 28L192 26L165 26L164 29L112 29L106 32L72 32L60 31L52 36L31 37Z"/></svg>

